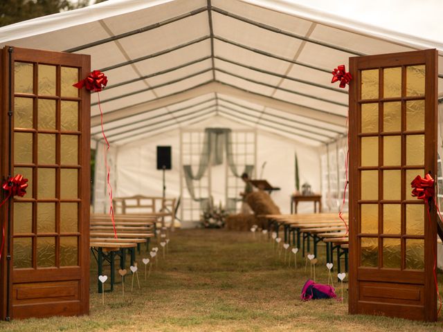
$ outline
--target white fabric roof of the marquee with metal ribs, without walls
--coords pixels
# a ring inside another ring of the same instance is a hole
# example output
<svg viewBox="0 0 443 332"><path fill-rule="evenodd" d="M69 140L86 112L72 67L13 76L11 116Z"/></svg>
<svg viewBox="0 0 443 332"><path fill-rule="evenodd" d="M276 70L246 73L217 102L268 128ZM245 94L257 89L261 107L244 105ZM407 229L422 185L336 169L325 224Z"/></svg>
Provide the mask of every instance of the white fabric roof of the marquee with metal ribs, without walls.
<svg viewBox="0 0 443 332"><path fill-rule="evenodd" d="M0 28L0 44L90 54L109 78L100 100L115 144L219 115L320 145L345 131L347 89L330 84L334 67L359 55L443 52L282 0L107 1ZM439 64L440 83L443 53Z"/></svg>

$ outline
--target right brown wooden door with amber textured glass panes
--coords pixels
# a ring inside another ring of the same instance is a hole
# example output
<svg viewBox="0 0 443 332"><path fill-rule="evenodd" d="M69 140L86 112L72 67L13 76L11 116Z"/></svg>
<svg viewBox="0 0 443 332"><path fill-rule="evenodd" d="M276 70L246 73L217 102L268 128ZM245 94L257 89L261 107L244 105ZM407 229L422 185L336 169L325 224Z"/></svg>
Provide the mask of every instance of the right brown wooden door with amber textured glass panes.
<svg viewBox="0 0 443 332"><path fill-rule="evenodd" d="M437 51L350 58L350 313L437 319L435 208L411 196L437 174Z"/></svg>

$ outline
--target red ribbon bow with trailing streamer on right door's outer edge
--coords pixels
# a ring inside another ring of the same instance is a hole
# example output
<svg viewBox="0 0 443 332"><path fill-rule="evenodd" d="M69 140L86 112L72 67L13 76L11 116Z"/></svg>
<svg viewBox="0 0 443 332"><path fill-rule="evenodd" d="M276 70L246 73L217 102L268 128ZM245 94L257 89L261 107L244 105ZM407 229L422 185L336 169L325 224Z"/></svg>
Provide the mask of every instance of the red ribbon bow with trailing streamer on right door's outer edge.
<svg viewBox="0 0 443 332"><path fill-rule="evenodd" d="M428 213L429 223L431 220L431 212L429 203L431 201L434 202L435 208L437 208L438 215L440 216L440 220L442 220L442 215L440 214L440 209L438 208L437 201L435 200L435 189L434 189L435 180L432 178L431 174L426 174L424 178L422 176L417 175L414 180L410 183L410 186L413 187L412 196L417 197L417 199L422 199L426 205L426 212ZM434 284L435 291L437 291L438 301L440 306L437 311L437 315L440 314L440 310L442 310L442 297L440 297L440 292L438 291L438 283L437 283L437 273L435 272L437 268L437 255L434 255Z"/></svg>

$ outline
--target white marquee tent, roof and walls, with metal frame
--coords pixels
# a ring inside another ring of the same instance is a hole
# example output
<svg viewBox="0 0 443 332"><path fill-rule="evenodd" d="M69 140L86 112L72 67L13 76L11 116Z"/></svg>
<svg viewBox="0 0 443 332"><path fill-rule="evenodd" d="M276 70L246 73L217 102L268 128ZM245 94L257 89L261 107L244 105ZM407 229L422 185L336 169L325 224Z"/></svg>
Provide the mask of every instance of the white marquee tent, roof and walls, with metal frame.
<svg viewBox="0 0 443 332"><path fill-rule="evenodd" d="M273 194L282 212L294 190L294 152L301 181L323 193L326 208L338 207L347 89L330 84L334 67L353 56L443 52L443 44L282 0L107 1L0 28L0 44L89 54L91 68L105 72L100 100L114 196L161 194L157 145L172 145L168 196L178 196L183 130L255 129L255 165L266 162L264 177L282 188ZM443 53L439 63L441 96ZM102 142L97 102L94 93L93 147ZM105 185L97 172L100 210ZM213 181L223 174L215 169ZM213 187L217 201L223 186Z"/></svg>

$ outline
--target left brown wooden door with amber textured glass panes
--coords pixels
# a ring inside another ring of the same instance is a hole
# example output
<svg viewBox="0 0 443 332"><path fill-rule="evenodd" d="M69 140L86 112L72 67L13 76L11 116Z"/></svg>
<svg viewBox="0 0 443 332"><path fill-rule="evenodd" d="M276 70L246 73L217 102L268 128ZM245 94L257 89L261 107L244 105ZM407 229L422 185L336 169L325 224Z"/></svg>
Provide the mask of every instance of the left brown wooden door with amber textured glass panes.
<svg viewBox="0 0 443 332"><path fill-rule="evenodd" d="M1 52L1 176L29 179L1 210L2 319L89 312L90 94L72 86L89 71L89 55Z"/></svg>

